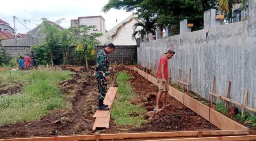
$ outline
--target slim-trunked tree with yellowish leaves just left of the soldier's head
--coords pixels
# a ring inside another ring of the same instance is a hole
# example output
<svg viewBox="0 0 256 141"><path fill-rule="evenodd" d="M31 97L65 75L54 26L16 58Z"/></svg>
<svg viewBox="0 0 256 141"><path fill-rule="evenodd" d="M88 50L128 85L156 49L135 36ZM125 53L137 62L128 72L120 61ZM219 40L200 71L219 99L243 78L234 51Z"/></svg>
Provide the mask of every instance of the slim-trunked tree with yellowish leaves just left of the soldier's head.
<svg viewBox="0 0 256 141"><path fill-rule="evenodd" d="M87 57L88 54L91 53L88 52L88 49L91 50L95 45L100 44L96 38L102 36L102 33L97 33L98 30L94 25L70 27L69 31L73 33L70 37L72 38L72 41L74 41L76 45L82 44L83 48L81 49L83 49L83 54L85 56L85 67L88 69Z"/></svg>

